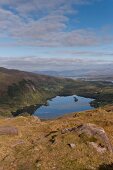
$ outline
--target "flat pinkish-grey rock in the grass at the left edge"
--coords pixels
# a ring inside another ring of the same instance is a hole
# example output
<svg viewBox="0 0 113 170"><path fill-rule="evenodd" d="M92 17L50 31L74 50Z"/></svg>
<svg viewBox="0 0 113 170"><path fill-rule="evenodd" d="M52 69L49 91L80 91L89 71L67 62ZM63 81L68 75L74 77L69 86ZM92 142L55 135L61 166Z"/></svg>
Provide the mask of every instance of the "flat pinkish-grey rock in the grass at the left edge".
<svg viewBox="0 0 113 170"><path fill-rule="evenodd" d="M0 126L0 135L18 135L18 129L13 126Z"/></svg>

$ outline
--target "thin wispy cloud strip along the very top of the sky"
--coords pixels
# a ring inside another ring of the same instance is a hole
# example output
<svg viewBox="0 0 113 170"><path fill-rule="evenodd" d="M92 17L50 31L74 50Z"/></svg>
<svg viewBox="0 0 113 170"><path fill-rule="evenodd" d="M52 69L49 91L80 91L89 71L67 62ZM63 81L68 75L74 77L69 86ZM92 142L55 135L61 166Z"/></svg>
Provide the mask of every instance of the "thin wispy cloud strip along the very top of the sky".
<svg viewBox="0 0 113 170"><path fill-rule="evenodd" d="M15 8L16 11L22 14L28 14L30 12L48 12L55 10L65 10L65 6L87 4L93 0L0 0L0 4L7 4L11 8ZM69 8L68 8L69 9Z"/></svg>

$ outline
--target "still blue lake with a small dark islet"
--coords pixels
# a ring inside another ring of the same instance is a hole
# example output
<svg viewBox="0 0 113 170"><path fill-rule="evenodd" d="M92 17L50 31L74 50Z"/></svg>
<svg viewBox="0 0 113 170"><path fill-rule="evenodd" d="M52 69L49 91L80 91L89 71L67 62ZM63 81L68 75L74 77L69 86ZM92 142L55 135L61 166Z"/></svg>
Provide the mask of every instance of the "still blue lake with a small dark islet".
<svg viewBox="0 0 113 170"><path fill-rule="evenodd" d="M53 119L72 112L91 110L93 107L89 103L92 100L76 95L66 97L57 96L52 100L48 100L47 106L43 105L38 108L34 115L41 119Z"/></svg>

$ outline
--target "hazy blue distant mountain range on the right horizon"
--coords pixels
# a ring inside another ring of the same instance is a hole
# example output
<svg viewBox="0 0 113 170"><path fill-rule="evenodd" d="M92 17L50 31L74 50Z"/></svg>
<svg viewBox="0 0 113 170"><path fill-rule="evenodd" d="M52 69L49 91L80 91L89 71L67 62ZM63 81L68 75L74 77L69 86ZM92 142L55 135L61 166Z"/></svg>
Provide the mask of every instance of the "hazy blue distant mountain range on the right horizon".
<svg viewBox="0 0 113 170"><path fill-rule="evenodd" d="M35 73L52 75L57 77L82 78L88 80L113 81L113 65L92 65L63 71L36 71Z"/></svg>

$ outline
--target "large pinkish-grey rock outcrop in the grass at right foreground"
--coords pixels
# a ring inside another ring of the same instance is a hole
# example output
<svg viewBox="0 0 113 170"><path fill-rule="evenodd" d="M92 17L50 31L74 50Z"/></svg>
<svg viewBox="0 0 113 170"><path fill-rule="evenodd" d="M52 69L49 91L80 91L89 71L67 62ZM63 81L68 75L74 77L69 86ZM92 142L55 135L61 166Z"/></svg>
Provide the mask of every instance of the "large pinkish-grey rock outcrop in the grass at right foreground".
<svg viewBox="0 0 113 170"><path fill-rule="evenodd" d="M83 137L87 143L92 145L97 151L101 150L103 152L108 150L110 153L113 153L113 147L103 128L87 123L77 127L64 129L62 133L72 131L77 132L81 138Z"/></svg>

